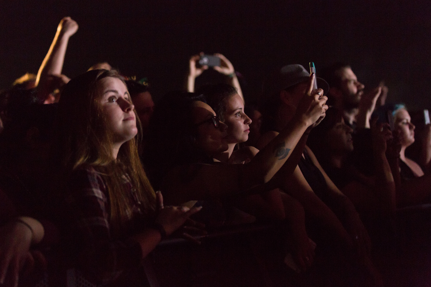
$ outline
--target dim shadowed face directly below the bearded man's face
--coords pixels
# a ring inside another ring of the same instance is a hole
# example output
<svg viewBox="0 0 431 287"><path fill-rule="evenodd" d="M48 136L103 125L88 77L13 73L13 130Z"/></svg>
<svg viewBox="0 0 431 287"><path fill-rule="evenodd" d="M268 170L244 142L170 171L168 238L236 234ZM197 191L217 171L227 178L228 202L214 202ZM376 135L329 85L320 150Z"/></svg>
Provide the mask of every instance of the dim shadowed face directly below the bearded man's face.
<svg viewBox="0 0 431 287"><path fill-rule="evenodd" d="M339 123L336 123L326 135L326 141L328 142L328 148L331 152L336 154L350 153L353 151L353 130L347 124L344 123L344 119L341 119Z"/></svg>

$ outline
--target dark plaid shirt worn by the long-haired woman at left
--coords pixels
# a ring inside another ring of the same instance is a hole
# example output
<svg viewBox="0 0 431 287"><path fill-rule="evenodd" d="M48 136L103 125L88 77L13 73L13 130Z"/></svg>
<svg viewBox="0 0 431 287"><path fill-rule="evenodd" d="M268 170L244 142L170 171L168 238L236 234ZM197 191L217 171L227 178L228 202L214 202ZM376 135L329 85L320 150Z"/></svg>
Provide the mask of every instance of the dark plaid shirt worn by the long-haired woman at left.
<svg viewBox="0 0 431 287"><path fill-rule="evenodd" d="M116 281L120 275L139 267L142 259L141 247L128 238L142 231L146 218L140 209L140 202L134 195L130 179L124 178L124 195L133 202L133 211L125 232L114 235L110 224L109 194L100 173L94 168L76 170L69 180L71 192L67 204L72 213L69 244L77 266L84 276L97 283ZM122 276L123 277L123 276ZM121 286L116 282L113 286Z"/></svg>

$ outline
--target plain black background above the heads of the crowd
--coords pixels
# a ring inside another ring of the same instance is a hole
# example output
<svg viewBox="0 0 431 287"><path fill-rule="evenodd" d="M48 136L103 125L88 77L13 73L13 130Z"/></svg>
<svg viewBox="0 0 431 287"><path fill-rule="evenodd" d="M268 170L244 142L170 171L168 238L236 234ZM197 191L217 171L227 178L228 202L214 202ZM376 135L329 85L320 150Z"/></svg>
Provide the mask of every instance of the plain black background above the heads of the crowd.
<svg viewBox="0 0 431 287"><path fill-rule="evenodd" d="M158 99L180 89L191 55L221 52L254 99L272 69L348 62L366 89L385 80L389 99L431 106L428 1L0 1L0 89L37 73L64 16L78 22L63 74L100 61L148 77Z"/></svg>

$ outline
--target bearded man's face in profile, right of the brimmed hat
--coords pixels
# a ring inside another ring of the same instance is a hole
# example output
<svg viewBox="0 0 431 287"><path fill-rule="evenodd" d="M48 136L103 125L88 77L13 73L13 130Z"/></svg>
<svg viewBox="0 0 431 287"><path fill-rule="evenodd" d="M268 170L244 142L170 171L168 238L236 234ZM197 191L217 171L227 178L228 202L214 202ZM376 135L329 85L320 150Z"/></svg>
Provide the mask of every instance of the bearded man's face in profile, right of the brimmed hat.
<svg viewBox="0 0 431 287"><path fill-rule="evenodd" d="M341 92L343 93L344 105L357 106L364 93L364 85L358 82L358 78L351 68L341 71Z"/></svg>

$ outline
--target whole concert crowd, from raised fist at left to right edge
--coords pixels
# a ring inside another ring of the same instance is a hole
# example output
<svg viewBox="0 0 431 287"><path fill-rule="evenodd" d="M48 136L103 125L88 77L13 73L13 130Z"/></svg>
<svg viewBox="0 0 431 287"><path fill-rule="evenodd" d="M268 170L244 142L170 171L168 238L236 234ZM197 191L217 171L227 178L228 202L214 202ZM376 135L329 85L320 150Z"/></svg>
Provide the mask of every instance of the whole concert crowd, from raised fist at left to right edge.
<svg viewBox="0 0 431 287"><path fill-rule="evenodd" d="M71 269L145 286L136 273L160 241L255 222L278 226L294 271L328 250L362 286L384 285L372 248L398 208L431 198L431 124L415 143L384 83L364 93L349 65L316 77L291 64L249 103L231 62L201 53L187 88L155 105L146 79L106 62L63 75L77 30L62 19L37 75L1 92L0 286L66 286ZM195 86L206 70L225 82Z"/></svg>

